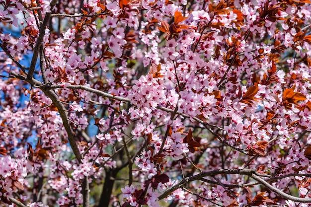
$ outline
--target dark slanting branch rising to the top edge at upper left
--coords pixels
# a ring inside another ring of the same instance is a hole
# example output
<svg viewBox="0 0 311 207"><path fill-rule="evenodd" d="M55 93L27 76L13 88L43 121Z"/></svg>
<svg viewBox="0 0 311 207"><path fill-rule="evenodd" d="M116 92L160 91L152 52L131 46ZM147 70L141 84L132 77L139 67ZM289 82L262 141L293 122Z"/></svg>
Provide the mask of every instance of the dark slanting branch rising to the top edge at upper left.
<svg viewBox="0 0 311 207"><path fill-rule="evenodd" d="M30 68L29 68L29 71L28 71L28 74L27 74L27 79L31 79L32 76L33 76L33 73L35 71L35 66L36 66L36 63L37 63L40 46L42 44L43 37L44 37L44 34L45 34L45 27L46 27L46 25L48 24L48 22L50 20L52 9L55 6L56 2L57 2L57 0L52 0L51 1L51 3L50 3L51 12L47 12L45 14L44 19L43 19L43 23L42 23L42 25L40 27L39 37L37 39L37 42L36 42L36 45L35 45L35 48L34 48L34 51L33 51L33 56L32 56L31 63L30 63Z"/></svg>

